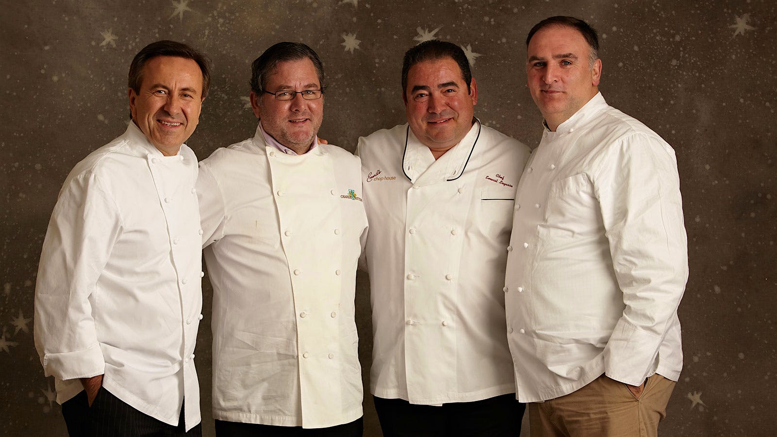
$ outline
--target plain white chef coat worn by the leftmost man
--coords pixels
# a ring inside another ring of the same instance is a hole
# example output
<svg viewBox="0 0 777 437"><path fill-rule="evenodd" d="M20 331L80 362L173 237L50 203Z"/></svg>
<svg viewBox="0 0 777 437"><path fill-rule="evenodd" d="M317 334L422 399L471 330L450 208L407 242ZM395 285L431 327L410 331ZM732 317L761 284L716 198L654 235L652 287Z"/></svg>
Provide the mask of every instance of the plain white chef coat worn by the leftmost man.
<svg viewBox="0 0 777 437"><path fill-rule="evenodd" d="M162 156L130 123L71 171L40 254L35 345L60 404L103 387L169 425L200 422L197 157Z"/></svg>

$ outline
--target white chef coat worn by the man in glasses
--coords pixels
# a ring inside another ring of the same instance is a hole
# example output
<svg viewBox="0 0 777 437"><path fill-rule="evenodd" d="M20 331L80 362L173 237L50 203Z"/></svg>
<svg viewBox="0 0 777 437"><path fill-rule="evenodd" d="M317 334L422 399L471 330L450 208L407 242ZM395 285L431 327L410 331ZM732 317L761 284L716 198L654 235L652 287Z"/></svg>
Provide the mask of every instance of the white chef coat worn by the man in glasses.
<svg viewBox="0 0 777 437"><path fill-rule="evenodd" d="M360 169L334 145L286 155L258 128L200 163L214 418L324 428L361 417Z"/></svg>

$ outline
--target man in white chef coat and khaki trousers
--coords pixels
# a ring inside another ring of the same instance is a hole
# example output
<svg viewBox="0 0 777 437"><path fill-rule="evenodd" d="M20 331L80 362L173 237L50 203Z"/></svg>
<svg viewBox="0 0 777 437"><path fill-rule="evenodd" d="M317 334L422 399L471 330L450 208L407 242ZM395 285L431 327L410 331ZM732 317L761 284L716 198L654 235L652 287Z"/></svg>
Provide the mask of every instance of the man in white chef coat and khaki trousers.
<svg viewBox="0 0 777 437"><path fill-rule="evenodd" d="M545 117L515 205L507 332L531 435L657 435L682 367L688 255L674 150L598 91L595 30L528 34Z"/></svg>

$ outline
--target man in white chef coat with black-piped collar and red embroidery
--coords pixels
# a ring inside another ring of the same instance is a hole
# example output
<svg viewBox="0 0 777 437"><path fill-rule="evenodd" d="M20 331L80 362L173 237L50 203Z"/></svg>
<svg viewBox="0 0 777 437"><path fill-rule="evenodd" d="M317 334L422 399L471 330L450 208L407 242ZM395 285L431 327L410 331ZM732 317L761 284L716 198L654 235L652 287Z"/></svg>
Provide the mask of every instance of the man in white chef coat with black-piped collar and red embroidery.
<svg viewBox="0 0 777 437"><path fill-rule="evenodd" d="M481 124L477 98L460 47L421 43L402 65L407 123L359 138L387 437L521 430L501 278L529 149Z"/></svg>

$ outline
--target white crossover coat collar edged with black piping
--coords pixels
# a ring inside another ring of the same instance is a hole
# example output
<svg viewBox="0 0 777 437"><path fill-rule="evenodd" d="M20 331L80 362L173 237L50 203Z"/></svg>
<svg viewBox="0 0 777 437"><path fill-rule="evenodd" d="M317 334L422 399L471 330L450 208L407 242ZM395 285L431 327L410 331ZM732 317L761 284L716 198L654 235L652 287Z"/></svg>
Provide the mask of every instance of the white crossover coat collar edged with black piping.
<svg viewBox="0 0 777 437"><path fill-rule="evenodd" d="M472 151L480 137L480 121L475 118L472 128L462 141L453 146L443 156L434 160L430 149L424 145L407 125L405 137L405 153L402 156L402 171L413 184L437 184L438 182L456 180L462 176L469 163ZM429 166L424 161L432 159Z"/></svg>

